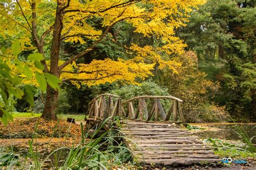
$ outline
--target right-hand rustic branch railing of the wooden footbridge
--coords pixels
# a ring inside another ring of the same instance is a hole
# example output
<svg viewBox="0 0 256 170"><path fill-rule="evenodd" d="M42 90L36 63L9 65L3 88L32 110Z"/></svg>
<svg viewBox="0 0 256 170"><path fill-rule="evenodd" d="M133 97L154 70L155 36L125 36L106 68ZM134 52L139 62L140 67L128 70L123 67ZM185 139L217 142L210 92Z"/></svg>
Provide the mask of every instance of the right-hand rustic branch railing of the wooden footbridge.
<svg viewBox="0 0 256 170"><path fill-rule="evenodd" d="M148 110L147 107L147 100L154 100L153 105L151 106L151 110ZM160 99L169 99L173 100L172 106L170 107L169 111L165 113L163 105L161 104ZM134 109L133 101L138 101L137 110ZM127 104L127 113L125 113L125 117L130 119L139 119L139 120L154 120L154 121L168 121L170 120L171 114L173 114L173 121L177 121L178 113L181 122L185 123L185 119L183 116L183 112L181 109L181 104L183 100L173 96L138 96L126 100L123 102L123 105Z"/></svg>

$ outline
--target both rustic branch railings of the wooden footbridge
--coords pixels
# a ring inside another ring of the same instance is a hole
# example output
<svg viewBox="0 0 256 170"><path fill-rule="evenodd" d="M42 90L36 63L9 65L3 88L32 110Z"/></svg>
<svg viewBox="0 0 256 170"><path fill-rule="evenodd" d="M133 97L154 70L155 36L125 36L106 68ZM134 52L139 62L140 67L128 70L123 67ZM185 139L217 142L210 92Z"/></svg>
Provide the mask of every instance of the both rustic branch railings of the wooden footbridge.
<svg viewBox="0 0 256 170"><path fill-rule="evenodd" d="M147 109L145 99L154 99L154 103L150 111ZM167 113L165 113L160 99L174 100ZM138 104L133 105L133 101L135 100L138 100ZM181 110L182 103L183 100L172 96L138 96L122 103L121 97L105 93L100 94L90 102L87 120L98 122L104 121L108 117L119 116L146 121L169 121L171 114L173 114L172 120L177 121L179 113L181 122L185 123L183 112ZM123 107L125 104L128 104L128 106L125 107L127 112L125 112ZM137 109L135 109L134 106L137 106Z"/></svg>

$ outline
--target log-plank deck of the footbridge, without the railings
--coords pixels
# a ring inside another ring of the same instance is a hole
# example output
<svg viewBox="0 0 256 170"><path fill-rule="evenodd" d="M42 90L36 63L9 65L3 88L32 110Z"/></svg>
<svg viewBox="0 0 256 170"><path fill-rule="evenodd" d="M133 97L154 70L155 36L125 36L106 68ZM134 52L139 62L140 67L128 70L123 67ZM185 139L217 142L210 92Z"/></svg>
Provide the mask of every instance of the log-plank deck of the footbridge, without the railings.
<svg viewBox="0 0 256 170"><path fill-rule="evenodd" d="M177 167L220 161L183 125L127 121L121 131L133 158L141 164Z"/></svg>

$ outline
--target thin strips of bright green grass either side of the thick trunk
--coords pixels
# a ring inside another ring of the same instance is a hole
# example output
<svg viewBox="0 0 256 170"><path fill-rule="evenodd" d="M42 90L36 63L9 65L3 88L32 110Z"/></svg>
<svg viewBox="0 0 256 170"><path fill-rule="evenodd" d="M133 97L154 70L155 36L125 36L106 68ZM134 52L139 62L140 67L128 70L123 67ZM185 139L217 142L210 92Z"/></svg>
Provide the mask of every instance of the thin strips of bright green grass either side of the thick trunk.
<svg viewBox="0 0 256 170"><path fill-rule="evenodd" d="M41 117L41 113L25 113L25 112L14 112L12 113L12 117L14 118L35 118ZM85 115L84 114L57 114L57 117L61 120L66 120L67 118L73 118L75 121L83 121Z"/></svg>

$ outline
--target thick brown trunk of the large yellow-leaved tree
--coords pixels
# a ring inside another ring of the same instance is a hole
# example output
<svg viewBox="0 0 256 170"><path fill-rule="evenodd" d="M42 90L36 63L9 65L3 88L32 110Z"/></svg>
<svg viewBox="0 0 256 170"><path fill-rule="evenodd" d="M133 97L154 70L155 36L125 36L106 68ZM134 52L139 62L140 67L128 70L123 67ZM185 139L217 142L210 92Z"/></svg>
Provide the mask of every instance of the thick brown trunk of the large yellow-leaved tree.
<svg viewBox="0 0 256 170"><path fill-rule="evenodd" d="M55 23L53 25L53 35L52 35L52 46L51 46L51 60L50 60L50 72L59 78L59 50L61 44L61 34L63 29L63 6L65 2L58 2ZM57 107L58 91L52 89L49 84L47 84L46 89L46 99L44 105L44 111L42 117L46 120L57 120L55 113L55 108Z"/></svg>

